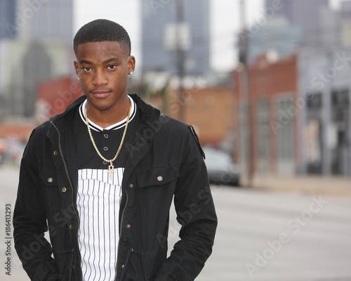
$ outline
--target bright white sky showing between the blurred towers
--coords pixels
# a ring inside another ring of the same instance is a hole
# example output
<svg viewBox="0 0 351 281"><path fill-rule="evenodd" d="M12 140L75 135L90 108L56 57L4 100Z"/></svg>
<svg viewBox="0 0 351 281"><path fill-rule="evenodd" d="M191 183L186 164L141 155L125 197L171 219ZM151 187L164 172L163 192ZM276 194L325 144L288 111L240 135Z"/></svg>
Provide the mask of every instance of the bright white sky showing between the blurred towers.
<svg viewBox="0 0 351 281"><path fill-rule="evenodd" d="M91 20L106 18L123 25L131 37L132 53L136 58L137 72L141 70L140 1L129 0L75 0L74 31ZM148 0L144 0L148 1ZM343 0L329 0L333 8L338 8ZM149 1L150 2L150 1ZM168 1L171 3L171 1ZM264 0L246 0L247 21L250 25L264 15ZM167 1L164 1L167 3ZM210 65L218 72L233 70L237 64L237 33L240 29L240 0L210 1ZM284 3L284 1L282 1ZM166 4L167 5L167 4ZM108 7L108 8L105 8ZM161 13L159 8L157 11Z"/></svg>

